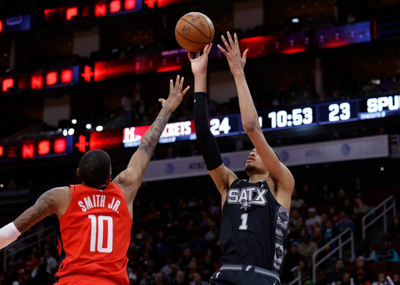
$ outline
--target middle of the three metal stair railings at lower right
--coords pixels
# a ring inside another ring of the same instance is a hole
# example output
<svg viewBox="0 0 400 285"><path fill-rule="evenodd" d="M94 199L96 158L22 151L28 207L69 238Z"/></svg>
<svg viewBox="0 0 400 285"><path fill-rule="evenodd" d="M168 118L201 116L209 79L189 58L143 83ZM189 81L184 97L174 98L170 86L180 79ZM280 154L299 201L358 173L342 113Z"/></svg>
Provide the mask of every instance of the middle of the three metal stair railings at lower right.
<svg viewBox="0 0 400 285"><path fill-rule="evenodd" d="M350 237L347 240L343 241L342 238L347 233L350 233ZM335 243L336 241L338 241L337 247L335 249L331 250L328 254L324 255L324 257L321 258L318 262L316 262L316 257L318 256L318 254L320 252L324 251L326 248L330 247L330 245ZM339 252L339 259L341 259L342 255L343 255L343 247L348 243L351 243L351 258L353 259L354 258L354 234L350 228L347 228L346 230L341 232L337 237L335 237L330 242L328 242L327 244L325 244L324 246L319 248L316 252L314 252L314 254L312 255L312 284L314 284L316 282L316 268L321 263L323 263L326 259L328 259L331 255L335 254L337 251Z"/></svg>

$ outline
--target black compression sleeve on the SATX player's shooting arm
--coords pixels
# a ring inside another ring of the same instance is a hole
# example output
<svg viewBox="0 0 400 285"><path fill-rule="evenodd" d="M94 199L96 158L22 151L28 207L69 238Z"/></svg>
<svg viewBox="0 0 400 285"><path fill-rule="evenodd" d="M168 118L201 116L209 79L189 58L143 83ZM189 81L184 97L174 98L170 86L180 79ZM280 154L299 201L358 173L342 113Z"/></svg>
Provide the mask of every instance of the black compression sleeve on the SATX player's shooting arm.
<svg viewBox="0 0 400 285"><path fill-rule="evenodd" d="M207 170L214 170L222 164L222 157L209 129L207 93L205 92L194 93L194 127L205 166Z"/></svg>

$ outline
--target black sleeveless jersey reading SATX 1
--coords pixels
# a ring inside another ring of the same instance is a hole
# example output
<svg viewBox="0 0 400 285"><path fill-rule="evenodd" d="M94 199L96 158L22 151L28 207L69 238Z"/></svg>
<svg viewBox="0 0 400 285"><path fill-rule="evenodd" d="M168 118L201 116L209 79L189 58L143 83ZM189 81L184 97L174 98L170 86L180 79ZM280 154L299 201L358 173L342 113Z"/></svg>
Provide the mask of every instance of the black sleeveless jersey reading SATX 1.
<svg viewBox="0 0 400 285"><path fill-rule="evenodd" d="M221 221L221 264L248 264L280 274L289 212L266 181L236 179L227 192Z"/></svg>

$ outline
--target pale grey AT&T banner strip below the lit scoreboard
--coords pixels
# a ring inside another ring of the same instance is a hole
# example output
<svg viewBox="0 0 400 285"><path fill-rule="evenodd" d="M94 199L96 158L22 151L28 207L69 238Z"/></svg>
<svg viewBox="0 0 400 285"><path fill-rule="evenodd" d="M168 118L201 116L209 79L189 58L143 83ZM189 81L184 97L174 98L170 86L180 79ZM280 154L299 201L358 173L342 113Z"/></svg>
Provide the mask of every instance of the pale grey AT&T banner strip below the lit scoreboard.
<svg viewBox="0 0 400 285"><path fill-rule="evenodd" d="M389 156L388 136L299 144L274 148L286 166L338 162ZM232 171L243 171L249 151L222 154L223 163ZM150 162L143 181L206 175L201 156Z"/></svg>

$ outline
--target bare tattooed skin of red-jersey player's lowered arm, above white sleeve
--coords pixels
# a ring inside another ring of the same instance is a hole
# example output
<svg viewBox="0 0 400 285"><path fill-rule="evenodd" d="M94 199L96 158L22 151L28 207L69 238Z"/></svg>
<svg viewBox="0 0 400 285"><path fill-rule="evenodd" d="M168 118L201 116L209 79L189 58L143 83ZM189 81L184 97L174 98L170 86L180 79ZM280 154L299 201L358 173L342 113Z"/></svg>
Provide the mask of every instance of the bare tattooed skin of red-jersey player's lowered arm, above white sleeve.
<svg viewBox="0 0 400 285"><path fill-rule="evenodd" d="M51 214L57 214L60 218L69 205L69 195L68 187L53 188L44 192L32 207L16 218L15 227L23 233Z"/></svg>

